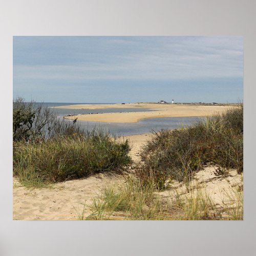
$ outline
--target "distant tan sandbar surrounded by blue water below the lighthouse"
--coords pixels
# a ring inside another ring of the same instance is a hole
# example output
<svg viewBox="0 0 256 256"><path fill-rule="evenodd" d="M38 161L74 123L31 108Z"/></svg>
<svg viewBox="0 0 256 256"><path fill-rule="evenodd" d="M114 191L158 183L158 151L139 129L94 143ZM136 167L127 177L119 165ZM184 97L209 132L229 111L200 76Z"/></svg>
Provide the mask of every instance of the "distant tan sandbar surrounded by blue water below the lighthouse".
<svg viewBox="0 0 256 256"><path fill-rule="evenodd" d="M74 115L66 117L80 121L94 122L119 122L119 123L136 123L141 119L159 118L159 117L193 117L208 116L216 113L225 112L229 106L227 105L193 105L193 104L151 104L151 103L129 103L129 104L90 104L90 105L69 105L58 106L56 108L67 109L131 109L131 108L147 108L152 112L127 112L127 113L103 113L90 115Z"/></svg>

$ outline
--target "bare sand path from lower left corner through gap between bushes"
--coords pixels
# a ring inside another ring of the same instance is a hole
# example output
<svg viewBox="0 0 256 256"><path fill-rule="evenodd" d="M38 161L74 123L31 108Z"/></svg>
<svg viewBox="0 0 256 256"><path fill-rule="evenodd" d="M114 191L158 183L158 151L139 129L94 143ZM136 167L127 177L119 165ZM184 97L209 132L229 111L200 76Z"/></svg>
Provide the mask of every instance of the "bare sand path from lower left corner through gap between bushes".
<svg viewBox="0 0 256 256"><path fill-rule="evenodd" d="M133 145L130 155L139 160L138 151L150 134L126 136ZM123 138L121 138L123 139ZM123 176L98 174L82 180L60 182L53 188L27 189L13 179L13 220L75 220L83 204L109 183L123 182Z"/></svg>

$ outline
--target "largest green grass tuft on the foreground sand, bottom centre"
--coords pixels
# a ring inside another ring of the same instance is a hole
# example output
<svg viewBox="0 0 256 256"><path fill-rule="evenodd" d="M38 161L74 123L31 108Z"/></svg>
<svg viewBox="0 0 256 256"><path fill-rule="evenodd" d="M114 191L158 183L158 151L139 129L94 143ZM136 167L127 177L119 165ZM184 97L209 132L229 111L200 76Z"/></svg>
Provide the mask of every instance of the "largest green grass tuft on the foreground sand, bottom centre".
<svg viewBox="0 0 256 256"><path fill-rule="evenodd" d="M167 220L167 208L155 197L154 187L142 187L129 175L123 184L109 184L100 190L92 203L84 205L87 211L78 214L80 220ZM169 211L169 209L168 209ZM89 212L86 216L85 212Z"/></svg>

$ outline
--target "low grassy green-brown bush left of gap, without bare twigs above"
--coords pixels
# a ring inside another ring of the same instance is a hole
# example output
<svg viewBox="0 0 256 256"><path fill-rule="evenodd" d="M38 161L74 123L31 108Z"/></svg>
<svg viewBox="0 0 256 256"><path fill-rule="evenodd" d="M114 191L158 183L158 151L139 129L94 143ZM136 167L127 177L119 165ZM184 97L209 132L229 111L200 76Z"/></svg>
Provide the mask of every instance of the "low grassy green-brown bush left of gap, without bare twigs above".
<svg viewBox="0 0 256 256"><path fill-rule="evenodd" d="M120 170L131 162L127 140L118 143L103 132L63 135L45 141L13 142L13 174L27 186Z"/></svg>

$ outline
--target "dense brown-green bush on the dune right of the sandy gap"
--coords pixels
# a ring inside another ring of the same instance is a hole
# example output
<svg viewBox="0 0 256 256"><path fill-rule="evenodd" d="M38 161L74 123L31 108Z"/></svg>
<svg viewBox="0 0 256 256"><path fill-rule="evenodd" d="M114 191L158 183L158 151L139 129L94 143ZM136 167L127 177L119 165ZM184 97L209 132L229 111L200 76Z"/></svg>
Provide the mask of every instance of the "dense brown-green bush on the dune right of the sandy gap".
<svg viewBox="0 0 256 256"><path fill-rule="evenodd" d="M206 164L243 172L243 104L195 125L155 133L141 153L137 176L164 188L170 178L188 181Z"/></svg>

